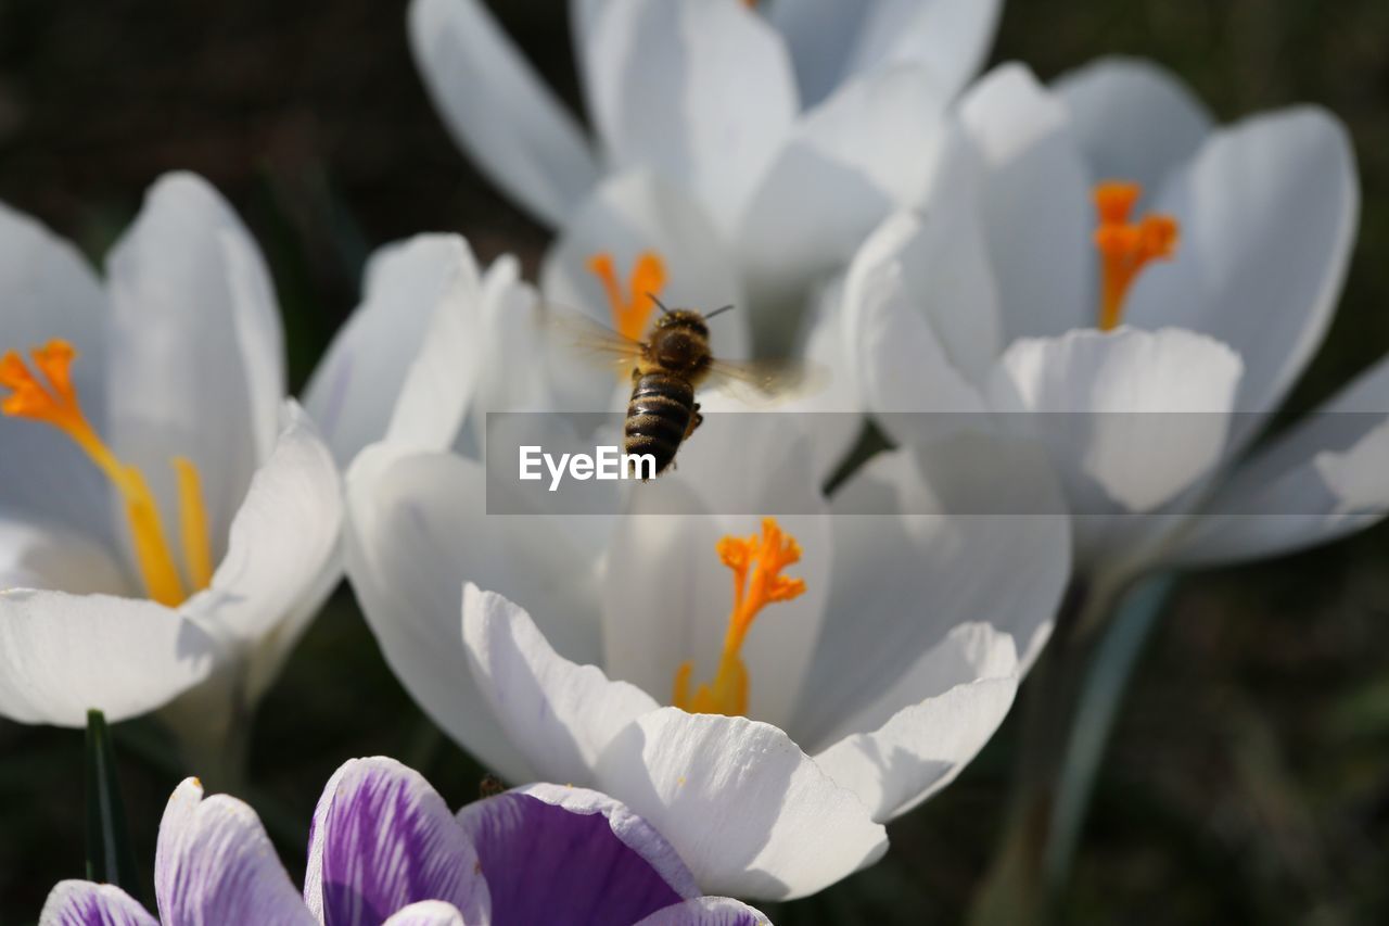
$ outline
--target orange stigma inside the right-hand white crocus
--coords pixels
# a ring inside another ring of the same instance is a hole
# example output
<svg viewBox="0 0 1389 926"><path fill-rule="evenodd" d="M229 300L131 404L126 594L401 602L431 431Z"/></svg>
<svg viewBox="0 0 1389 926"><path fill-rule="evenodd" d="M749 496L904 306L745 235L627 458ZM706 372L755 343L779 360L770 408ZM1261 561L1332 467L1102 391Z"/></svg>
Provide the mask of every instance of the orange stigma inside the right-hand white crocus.
<svg viewBox="0 0 1389 926"><path fill-rule="evenodd" d="M1178 225L1171 216L1147 214L1129 221L1133 203L1143 195L1138 184L1107 181L1095 188L1099 228L1095 246L1100 252L1100 331L1113 331L1124 321L1124 299L1143 267L1153 260L1171 260L1176 253Z"/></svg>

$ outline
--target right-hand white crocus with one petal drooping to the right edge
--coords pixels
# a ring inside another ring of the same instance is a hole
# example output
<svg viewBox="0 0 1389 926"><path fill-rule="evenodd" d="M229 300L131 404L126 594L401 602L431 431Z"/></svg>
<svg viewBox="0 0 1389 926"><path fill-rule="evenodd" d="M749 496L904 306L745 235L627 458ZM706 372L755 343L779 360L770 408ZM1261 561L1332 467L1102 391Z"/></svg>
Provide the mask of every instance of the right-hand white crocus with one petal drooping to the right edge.
<svg viewBox="0 0 1389 926"><path fill-rule="evenodd" d="M1278 553L1383 514L1386 362L1246 456L1321 342L1354 239L1333 117L1215 128L1149 64L1050 90L1008 65L961 100L947 149L920 213L850 274L870 407L1071 413L981 417L1047 446L1089 578ZM882 421L906 444L960 424Z"/></svg>

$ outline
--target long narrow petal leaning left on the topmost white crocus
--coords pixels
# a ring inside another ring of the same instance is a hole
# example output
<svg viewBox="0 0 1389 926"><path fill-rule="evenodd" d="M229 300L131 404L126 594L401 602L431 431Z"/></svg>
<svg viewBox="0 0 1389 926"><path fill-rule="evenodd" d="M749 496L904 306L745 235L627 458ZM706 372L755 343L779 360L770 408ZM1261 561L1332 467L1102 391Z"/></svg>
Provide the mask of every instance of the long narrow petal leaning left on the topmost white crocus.
<svg viewBox="0 0 1389 926"><path fill-rule="evenodd" d="M410 47L453 139L513 199L558 224L597 179L578 121L478 0L415 0Z"/></svg>

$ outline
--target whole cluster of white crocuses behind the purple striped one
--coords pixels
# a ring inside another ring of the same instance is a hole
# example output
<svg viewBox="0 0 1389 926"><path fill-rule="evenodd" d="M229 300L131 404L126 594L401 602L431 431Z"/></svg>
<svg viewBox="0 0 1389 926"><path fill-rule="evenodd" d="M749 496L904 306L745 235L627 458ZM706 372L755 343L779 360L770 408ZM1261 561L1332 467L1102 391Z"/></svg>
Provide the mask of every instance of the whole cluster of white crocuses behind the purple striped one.
<svg viewBox="0 0 1389 926"><path fill-rule="evenodd" d="M569 6L592 138L479 0L411 4L454 138L554 243L536 286L383 247L303 407L206 182L161 178L104 281L0 211L0 715L161 710L208 755L346 571L485 765L622 801L704 891L797 897L983 747L1068 587L1389 507L1389 360L1254 444L1354 242L1335 117L1215 127L1126 60L975 81L982 0ZM711 420L607 516L489 514L489 413L622 407L550 306L640 336L649 295L738 306L715 356L825 367L790 407L833 414ZM826 495L868 420L893 449Z"/></svg>

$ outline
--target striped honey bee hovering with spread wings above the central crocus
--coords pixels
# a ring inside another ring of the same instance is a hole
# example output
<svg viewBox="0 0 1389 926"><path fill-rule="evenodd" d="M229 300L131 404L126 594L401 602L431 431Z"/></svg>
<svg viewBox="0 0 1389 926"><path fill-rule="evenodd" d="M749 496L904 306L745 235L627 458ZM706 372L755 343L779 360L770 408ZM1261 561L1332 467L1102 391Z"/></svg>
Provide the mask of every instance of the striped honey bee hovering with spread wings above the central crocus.
<svg viewBox="0 0 1389 926"><path fill-rule="evenodd" d="M632 456L650 455L656 476L675 466L681 445L704 420L696 400L700 387L720 382L745 402L767 403L804 391L811 380L813 368L803 362L715 359L708 321L733 306L706 314L697 309L671 309L654 295L651 302L661 314L644 341L624 338L596 323L588 323L590 331L582 341L631 366L632 398L626 405L622 449Z"/></svg>

